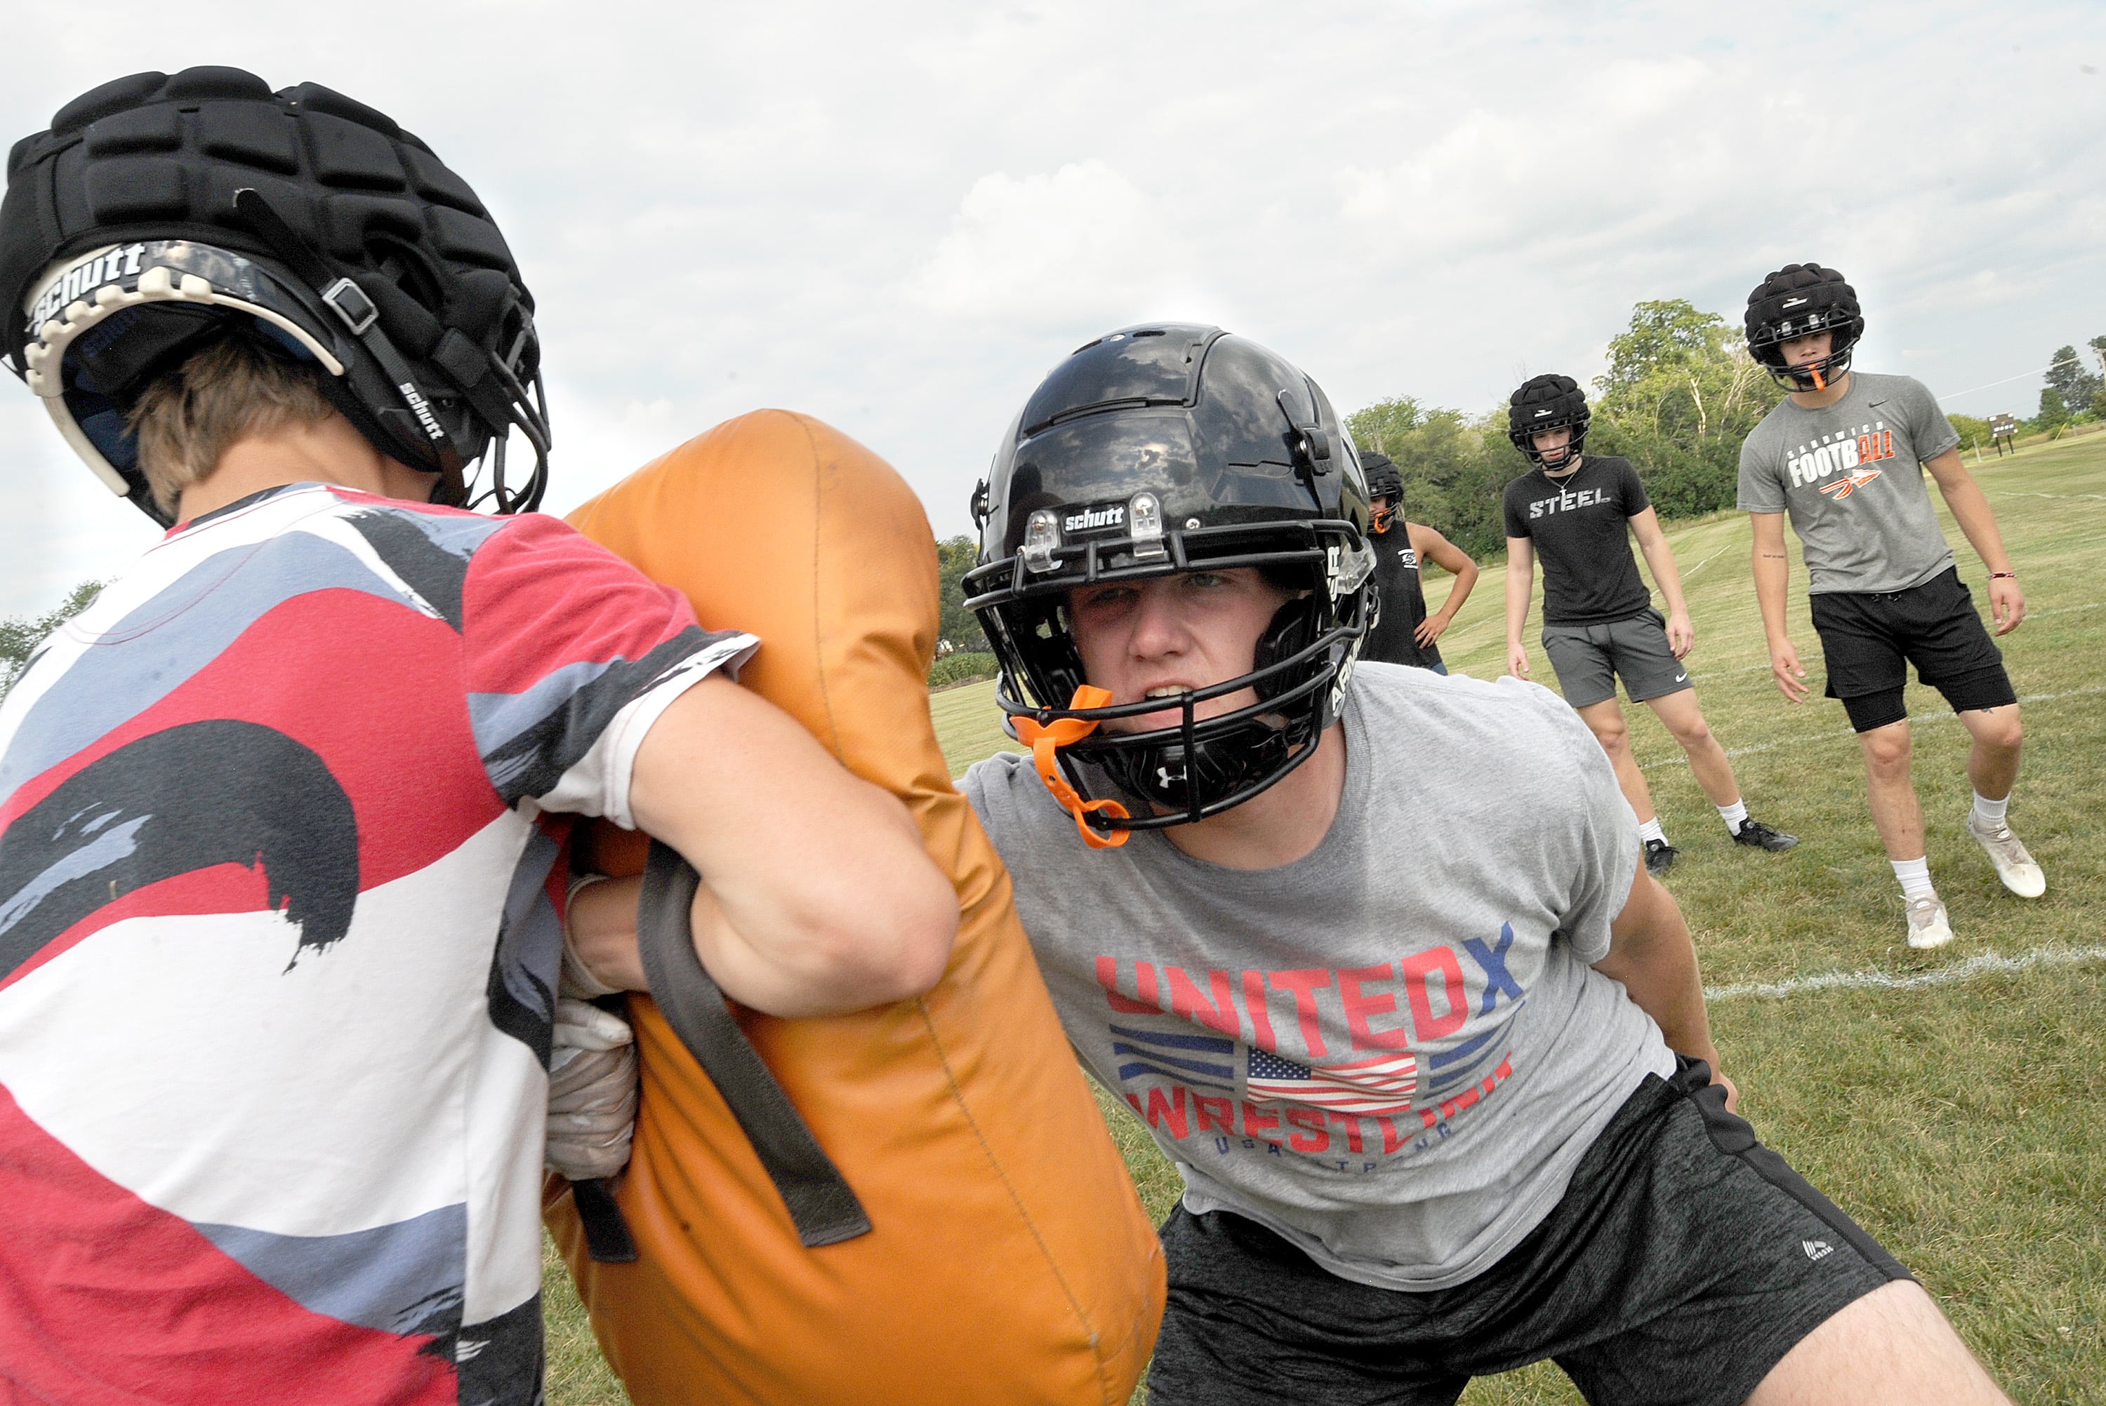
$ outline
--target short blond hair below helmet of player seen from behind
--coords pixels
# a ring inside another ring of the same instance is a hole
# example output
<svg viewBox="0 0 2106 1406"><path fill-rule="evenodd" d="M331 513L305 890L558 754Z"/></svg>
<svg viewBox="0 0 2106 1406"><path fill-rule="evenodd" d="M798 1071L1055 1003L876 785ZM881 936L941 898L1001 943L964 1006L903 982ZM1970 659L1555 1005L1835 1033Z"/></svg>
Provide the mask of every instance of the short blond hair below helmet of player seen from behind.
<svg viewBox="0 0 2106 1406"><path fill-rule="evenodd" d="M183 488L202 484L249 436L329 419L335 406L314 375L223 337L156 379L126 417L154 503L175 514Z"/></svg>

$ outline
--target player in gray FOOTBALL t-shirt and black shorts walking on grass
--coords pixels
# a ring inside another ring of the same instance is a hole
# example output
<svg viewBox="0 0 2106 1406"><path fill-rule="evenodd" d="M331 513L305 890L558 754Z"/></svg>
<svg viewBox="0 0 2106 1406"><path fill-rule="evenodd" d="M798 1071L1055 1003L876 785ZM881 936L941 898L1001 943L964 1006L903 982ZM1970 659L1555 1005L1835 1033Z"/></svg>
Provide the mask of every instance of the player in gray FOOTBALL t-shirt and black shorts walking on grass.
<svg viewBox="0 0 2106 1406"><path fill-rule="evenodd" d="M1959 431L1921 381L1853 373L1851 347L1862 335L1855 290L1817 263L1788 263L1748 295L1748 354L1792 394L1740 448L1740 505L1754 522L1754 596L1769 669L1799 703L1809 692L1807 674L1784 629L1784 514L1792 516L1828 661L1826 695L1843 699L1864 747L1872 825L1908 903L1908 945L1940 947L1952 941L1952 926L1931 888L1923 804L1908 779L1902 686L1910 663L1973 737L1967 833L2022 899L2039 899L2047 878L2005 819L2022 741L2018 695L1938 528L1919 463L1988 566L1999 636L2026 619L2026 594L1996 516L1961 463Z"/></svg>

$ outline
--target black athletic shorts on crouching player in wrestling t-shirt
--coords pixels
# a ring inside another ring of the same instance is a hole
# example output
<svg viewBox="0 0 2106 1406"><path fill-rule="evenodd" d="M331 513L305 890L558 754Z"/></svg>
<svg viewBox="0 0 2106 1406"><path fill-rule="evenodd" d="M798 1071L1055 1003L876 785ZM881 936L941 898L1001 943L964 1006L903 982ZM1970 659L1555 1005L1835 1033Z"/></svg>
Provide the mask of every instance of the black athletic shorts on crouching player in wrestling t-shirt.
<svg viewBox="0 0 2106 1406"><path fill-rule="evenodd" d="M1470 1377L1544 1358L1590 1402L1740 1406L1908 1271L1708 1082L1693 1061L1647 1076L1550 1217L1455 1288L1354 1284L1255 1221L1179 1206L1150 1406L1451 1406Z"/></svg>

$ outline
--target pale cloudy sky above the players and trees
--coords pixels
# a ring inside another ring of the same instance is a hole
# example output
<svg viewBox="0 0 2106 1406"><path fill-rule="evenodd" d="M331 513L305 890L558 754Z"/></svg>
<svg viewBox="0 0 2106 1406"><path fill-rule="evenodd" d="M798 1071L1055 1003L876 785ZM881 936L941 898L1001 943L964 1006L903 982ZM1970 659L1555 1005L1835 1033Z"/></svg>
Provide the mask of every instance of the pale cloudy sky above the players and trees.
<svg viewBox="0 0 2106 1406"><path fill-rule="evenodd" d="M788 406L962 533L1038 377L1150 318L1253 335L1342 408L1466 410L1598 373L1638 299L1737 320L1807 259L1857 286L1860 364L1954 410L2032 413L2106 333L2095 2L0 6L34 57L4 141L194 63L430 141L539 301L558 511ZM40 610L154 528L0 381L0 612Z"/></svg>

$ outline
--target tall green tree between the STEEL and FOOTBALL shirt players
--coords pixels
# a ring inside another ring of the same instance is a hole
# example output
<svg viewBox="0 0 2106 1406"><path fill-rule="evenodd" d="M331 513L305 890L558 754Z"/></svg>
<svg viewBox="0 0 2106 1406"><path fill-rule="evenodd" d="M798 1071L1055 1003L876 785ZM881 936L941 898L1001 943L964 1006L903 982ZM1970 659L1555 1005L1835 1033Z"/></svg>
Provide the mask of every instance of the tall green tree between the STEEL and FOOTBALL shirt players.
<svg viewBox="0 0 2106 1406"><path fill-rule="evenodd" d="M1731 507L1740 444L1784 400L1737 328L1683 299L1632 307L1594 391L1588 448L1630 459L1662 518Z"/></svg>

